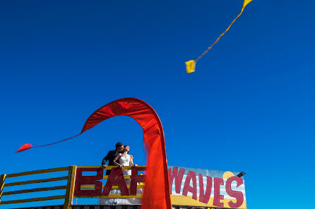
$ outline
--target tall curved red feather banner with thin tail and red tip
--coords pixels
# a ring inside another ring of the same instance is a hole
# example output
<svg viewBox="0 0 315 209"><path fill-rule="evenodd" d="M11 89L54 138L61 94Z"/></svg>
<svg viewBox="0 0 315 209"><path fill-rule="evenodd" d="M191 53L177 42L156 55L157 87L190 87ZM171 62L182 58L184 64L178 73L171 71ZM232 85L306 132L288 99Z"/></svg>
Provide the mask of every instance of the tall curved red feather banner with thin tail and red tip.
<svg viewBox="0 0 315 209"><path fill-rule="evenodd" d="M134 98L112 101L90 115L80 134L83 134L83 132L94 127L103 120L118 115L130 116L136 120L143 129L143 145L148 149L148 163L145 174L142 208L172 209L162 123L160 118L157 116L157 113L155 113L155 110L148 105L148 103L145 103L141 99ZM68 139L73 138L74 137ZM68 139L61 141L66 141ZM61 141L57 141L52 144L57 144ZM51 144L44 146L48 145ZM32 146L31 144L23 145L17 152L24 151L32 147L38 146Z"/></svg>

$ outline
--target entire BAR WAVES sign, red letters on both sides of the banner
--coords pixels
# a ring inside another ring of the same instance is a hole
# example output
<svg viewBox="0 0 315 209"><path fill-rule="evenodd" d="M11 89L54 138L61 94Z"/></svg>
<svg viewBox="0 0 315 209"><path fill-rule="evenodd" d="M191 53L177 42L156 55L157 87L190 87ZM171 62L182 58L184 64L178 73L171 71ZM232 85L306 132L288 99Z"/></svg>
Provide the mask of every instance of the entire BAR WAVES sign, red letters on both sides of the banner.
<svg viewBox="0 0 315 209"><path fill-rule="evenodd" d="M131 175L123 175L119 167L107 169L112 169L109 176L104 175L102 167L78 167L73 195L76 198L141 198L137 189L143 188L144 175L139 172L145 167L124 167L131 170ZM84 175L86 172L95 175ZM246 209L244 177L237 177L239 172L169 166L168 173L172 205ZM119 194L112 194L112 189L119 189Z"/></svg>

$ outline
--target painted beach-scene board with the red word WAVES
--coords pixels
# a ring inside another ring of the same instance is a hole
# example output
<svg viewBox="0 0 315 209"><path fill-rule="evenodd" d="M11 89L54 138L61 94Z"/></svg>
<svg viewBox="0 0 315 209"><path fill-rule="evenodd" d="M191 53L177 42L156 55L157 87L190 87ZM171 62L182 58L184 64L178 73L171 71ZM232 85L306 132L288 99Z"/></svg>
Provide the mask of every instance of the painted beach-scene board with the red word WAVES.
<svg viewBox="0 0 315 209"><path fill-rule="evenodd" d="M246 209L239 172L169 166L172 205Z"/></svg>

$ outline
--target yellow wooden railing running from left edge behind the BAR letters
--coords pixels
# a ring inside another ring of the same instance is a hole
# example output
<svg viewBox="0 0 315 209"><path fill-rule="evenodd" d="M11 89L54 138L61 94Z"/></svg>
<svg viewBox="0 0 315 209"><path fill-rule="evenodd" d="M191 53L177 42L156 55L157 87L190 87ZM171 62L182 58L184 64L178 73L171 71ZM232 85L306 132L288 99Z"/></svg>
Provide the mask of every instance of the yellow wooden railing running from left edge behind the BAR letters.
<svg viewBox="0 0 315 209"><path fill-rule="evenodd" d="M102 168L104 170L111 170L113 167L117 166L107 166L106 168L103 167L95 167L95 166L76 166L72 165L69 167L58 167L58 168L52 168L52 169L46 169L46 170L35 170L30 172L20 172L15 173L11 175L1 175L0 177L0 205L6 205L6 204L16 204L16 203L30 203L30 202L36 202L36 201L52 201L57 199L64 199L64 209L71 209L73 198L141 198L142 194L137 194L135 196L121 196L120 194L109 194L109 196L74 196L74 186L76 181L76 170L77 168ZM123 167L123 170L130 170L132 167ZM28 180L23 182L13 182L13 183L5 183L6 179L14 178L14 177L23 177L28 175L38 175L38 174L45 174L49 172L60 172L60 171L68 171L67 176L63 177L52 177L47 179L35 179L35 180ZM108 179L109 176L104 175L102 179ZM131 176L124 175L124 179L130 179ZM32 186L35 187L38 183L42 182L57 182L67 180L66 185L64 186L47 186L47 187L41 187L41 188L34 188L34 189L22 189L17 191L5 191L6 187L8 186L20 186L25 184L34 184ZM105 185L102 186L102 189L104 189ZM137 189L143 189L144 184L138 184L136 186ZM127 188L130 188L130 185L127 185ZM18 199L18 200L11 200L11 201L1 201L1 196L13 196L16 194L28 194L28 193L35 193L39 191L55 191L55 190L61 190L66 189L66 194L59 195L59 196L45 196L40 198L26 198L26 199ZM95 185L82 185L81 189L95 189ZM112 189L119 189L119 186L112 186Z"/></svg>

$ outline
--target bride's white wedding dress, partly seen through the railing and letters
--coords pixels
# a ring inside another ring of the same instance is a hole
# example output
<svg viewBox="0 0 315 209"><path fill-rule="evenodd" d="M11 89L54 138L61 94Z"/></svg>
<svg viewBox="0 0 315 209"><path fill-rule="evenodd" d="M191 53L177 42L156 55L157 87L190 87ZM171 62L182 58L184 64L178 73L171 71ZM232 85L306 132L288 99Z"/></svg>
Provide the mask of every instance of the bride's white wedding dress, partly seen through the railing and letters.
<svg viewBox="0 0 315 209"><path fill-rule="evenodd" d="M121 156L119 158L119 164L124 166L130 166L130 156ZM131 170L122 170L123 175L131 175ZM126 184L130 185L130 179L126 179ZM110 194L121 194L120 189L112 189ZM137 194L142 194L142 189L137 189ZM99 198L99 205L139 205L141 204L141 198Z"/></svg>

